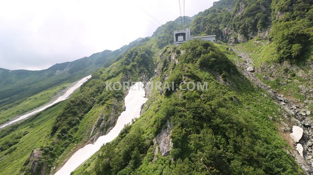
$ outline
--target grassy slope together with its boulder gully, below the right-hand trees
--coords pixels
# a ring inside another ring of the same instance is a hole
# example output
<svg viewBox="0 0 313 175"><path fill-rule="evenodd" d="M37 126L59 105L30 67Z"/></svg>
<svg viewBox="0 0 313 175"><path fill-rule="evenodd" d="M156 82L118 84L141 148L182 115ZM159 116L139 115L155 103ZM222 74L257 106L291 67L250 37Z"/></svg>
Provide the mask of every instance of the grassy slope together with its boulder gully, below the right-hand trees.
<svg viewBox="0 0 313 175"><path fill-rule="evenodd" d="M301 164L308 164L305 169L312 171L312 117L313 111L313 84L312 76L313 69L310 67L312 63L302 62L301 64L292 63L288 60L281 63L273 61L273 58L278 59L275 53L269 53L267 50L268 42L263 40L252 40L246 44L241 44L233 49L242 58L242 61L235 61L237 66L241 68L243 73L252 82L259 87L266 89L273 99L281 105L281 107L290 115L291 122L289 123L289 130L291 126L296 125L304 130L303 137L298 141L304 146L304 151L299 153L302 156L297 156L298 162ZM250 50L250 52L247 52ZM248 54L251 53L251 54ZM267 58L262 61L262 54L272 54L272 59ZM260 61L261 59L261 61ZM297 144L293 145L295 148ZM303 160L303 158L305 160Z"/></svg>

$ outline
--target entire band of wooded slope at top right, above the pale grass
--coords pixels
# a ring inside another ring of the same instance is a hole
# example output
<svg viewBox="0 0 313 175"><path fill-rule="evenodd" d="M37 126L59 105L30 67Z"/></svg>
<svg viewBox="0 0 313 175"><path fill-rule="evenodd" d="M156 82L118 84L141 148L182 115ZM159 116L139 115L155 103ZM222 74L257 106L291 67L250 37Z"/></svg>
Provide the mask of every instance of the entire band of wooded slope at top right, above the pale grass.
<svg viewBox="0 0 313 175"><path fill-rule="evenodd" d="M269 40L279 60L299 61L312 58L312 21L311 0L220 0L194 19L191 31L236 43L257 35L265 39L259 33L272 28Z"/></svg>

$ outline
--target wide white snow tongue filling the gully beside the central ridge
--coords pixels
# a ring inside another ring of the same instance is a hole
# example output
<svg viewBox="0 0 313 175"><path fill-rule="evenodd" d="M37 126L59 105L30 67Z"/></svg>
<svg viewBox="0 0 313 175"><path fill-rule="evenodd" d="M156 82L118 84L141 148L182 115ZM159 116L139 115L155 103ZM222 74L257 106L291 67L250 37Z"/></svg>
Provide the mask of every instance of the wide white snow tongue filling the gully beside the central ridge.
<svg viewBox="0 0 313 175"><path fill-rule="evenodd" d="M124 126L132 122L132 119L140 117L141 106L148 100L144 96L143 84L137 82L130 88L125 97L126 110L118 117L116 125L111 131L99 137L95 144L88 144L77 150L55 175L70 175L79 165L96 153L101 146L115 139Z"/></svg>

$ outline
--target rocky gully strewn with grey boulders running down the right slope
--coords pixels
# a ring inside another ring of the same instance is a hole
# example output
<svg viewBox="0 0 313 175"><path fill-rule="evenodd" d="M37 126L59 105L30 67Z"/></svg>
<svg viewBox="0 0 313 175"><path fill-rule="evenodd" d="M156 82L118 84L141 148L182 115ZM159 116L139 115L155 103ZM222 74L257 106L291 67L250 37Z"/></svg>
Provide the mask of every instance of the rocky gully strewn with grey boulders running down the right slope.
<svg viewBox="0 0 313 175"><path fill-rule="evenodd" d="M281 94L278 94L276 90L271 89L271 87L268 87L267 85L265 85L255 76L252 60L247 53L243 51L239 51L235 47L232 47L232 50L235 53L237 53L237 55L240 58L243 59L243 62L235 61L235 64L237 65L239 70L243 73L243 75L246 78L248 78L250 81L255 83L258 87L265 89L271 95L271 97L276 101L276 103L286 111L287 114L297 119L296 120L297 124L295 125L298 125L304 129L304 135L302 139L300 140L300 144L302 144L304 148L304 152L303 152L304 157L300 156L300 154L295 149L291 154L292 156L295 157L296 161L302 166L302 168L308 174L313 174L313 167L312 167L313 165L313 121L311 120L310 117L306 118L305 116L303 116L300 113L302 109L300 109L299 106L294 105L290 99L284 97ZM295 148L295 145L294 145L294 148Z"/></svg>

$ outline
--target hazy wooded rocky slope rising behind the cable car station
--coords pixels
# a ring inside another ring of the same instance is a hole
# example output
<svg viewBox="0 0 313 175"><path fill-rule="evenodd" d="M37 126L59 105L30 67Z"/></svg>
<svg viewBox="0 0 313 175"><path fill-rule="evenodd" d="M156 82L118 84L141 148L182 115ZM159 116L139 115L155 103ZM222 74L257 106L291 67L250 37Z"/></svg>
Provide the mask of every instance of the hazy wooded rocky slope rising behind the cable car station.
<svg viewBox="0 0 313 175"><path fill-rule="evenodd" d="M271 24L270 5L271 0L220 0L194 19L191 31L215 34L225 41L238 34L252 39Z"/></svg>

